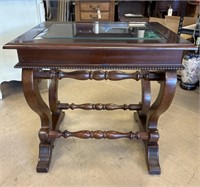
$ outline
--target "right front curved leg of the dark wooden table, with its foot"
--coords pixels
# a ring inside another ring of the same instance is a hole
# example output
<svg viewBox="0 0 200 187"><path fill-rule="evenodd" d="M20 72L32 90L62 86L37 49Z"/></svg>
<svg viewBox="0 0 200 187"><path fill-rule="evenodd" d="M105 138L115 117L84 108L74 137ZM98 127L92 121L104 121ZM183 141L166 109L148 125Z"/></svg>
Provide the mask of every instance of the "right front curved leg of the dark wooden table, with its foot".
<svg viewBox="0 0 200 187"><path fill-rule="evenodd" d="M159 94L147 113L146 131L151 134L150 139L146 142L146 160L150 174L160 174L159 165L159 134L157 130L158 119L170 106L175 90L177 76L176 71L165 72L165 80L160 82Z"/></svg>

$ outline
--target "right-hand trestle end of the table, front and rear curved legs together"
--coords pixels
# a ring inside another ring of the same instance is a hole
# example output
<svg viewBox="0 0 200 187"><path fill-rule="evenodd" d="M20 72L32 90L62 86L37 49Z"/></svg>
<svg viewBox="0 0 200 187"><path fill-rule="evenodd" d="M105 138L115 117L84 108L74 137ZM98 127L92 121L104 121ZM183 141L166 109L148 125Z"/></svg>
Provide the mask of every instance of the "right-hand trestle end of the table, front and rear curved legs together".
<svg viewBox="0 0 200 187"><path fill-rule="evenodd" d="M135 113L140 129L150 133L148 141L144 141L146 162L150 174L160 174L159 164L159 134L157 130L158 119L170 106L176 89L176 72L165 72L165 80L160 82L160 90L155 102L150 106L150 83L142 81L142 110ZM141 115L142 114L142 115Z"/></svg>

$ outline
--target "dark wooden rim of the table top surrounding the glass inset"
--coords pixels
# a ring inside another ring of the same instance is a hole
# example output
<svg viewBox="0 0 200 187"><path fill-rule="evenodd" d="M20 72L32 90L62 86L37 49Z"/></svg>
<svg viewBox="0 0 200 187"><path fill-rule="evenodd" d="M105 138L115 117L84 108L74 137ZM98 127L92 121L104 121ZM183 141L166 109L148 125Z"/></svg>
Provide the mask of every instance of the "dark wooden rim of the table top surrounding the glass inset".
<svg viewBox="0 0 200 187"><path fill-rule="evenodd" d="M68 50L196 50L197 46L181 38L176 33L170 31L157 22L149 22L151 26L166 36L165 42L150 41L99 41L99 40L73 40L73 39L42 39L34 40L33 38L47 29L52 23L43 22L26 33L8 42L3 46L4 49L68 49Z"/></svg>

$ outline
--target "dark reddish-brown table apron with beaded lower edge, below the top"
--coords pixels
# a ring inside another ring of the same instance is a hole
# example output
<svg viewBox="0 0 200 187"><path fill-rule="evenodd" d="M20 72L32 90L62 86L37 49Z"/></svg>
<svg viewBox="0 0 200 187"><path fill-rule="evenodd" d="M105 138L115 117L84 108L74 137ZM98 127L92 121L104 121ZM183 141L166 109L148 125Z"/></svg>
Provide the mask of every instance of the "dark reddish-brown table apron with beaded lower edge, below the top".
<svg viewBox="0 0 200 187"><path fill-rule="evenodd" d="M52 50L18 49L17 67L130 67L179 69L182 50Z"/></svg>

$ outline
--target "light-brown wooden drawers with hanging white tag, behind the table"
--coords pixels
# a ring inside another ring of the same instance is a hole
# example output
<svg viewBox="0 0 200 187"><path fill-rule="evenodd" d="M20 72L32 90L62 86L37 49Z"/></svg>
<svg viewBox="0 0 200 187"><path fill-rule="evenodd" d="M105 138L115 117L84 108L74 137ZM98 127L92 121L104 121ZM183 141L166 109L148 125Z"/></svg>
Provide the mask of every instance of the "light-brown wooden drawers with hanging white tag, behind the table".
<svg viewBox="0 0 200 187"><path fill-rule="evenodd" d="M115 1L75 1L76 21L114 21Z"/></svg>

